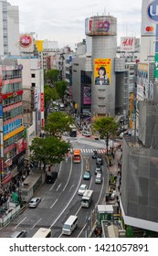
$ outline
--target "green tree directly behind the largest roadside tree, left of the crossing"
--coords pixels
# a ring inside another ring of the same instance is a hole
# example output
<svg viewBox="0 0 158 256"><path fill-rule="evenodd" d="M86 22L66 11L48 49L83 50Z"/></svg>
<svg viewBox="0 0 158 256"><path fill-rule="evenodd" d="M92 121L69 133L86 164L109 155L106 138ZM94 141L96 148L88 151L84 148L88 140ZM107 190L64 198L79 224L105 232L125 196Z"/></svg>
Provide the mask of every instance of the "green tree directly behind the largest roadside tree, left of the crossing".
<svg viewBox="0 0 158 256"><path fill-rule="evenodd" d="M65 112L52 112L47 117L45 130L52 136L61 137L64 132L70 131L69 124L73 118Z"/></svg>

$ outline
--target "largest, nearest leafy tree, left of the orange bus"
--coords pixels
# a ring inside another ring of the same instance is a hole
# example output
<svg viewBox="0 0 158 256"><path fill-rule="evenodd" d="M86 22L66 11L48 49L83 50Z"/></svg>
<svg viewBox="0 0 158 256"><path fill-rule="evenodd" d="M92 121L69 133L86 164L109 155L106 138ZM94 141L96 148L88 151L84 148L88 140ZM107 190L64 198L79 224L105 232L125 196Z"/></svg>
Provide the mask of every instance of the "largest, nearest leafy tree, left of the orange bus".
<svg viewBox="0 0 158 256"><path fill-rule="evenodd" d="M47 165L59 164L68 154L70 144L61 141L57 137L34 138L30 149L30 160L44 165L46 171Z"/></svg>

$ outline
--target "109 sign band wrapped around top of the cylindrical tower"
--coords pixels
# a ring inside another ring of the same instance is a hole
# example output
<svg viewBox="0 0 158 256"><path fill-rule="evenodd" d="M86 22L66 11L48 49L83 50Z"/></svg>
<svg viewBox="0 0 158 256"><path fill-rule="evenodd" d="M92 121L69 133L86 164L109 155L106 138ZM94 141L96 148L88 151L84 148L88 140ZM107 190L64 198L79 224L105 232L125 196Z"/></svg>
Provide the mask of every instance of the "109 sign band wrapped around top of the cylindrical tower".
<svg viewBox="0 0 158 256"><path fill-rule="evenodd" d="M86 18L85 34L88 36L116 36L117 19L114 16L92 16Z"/></svg>

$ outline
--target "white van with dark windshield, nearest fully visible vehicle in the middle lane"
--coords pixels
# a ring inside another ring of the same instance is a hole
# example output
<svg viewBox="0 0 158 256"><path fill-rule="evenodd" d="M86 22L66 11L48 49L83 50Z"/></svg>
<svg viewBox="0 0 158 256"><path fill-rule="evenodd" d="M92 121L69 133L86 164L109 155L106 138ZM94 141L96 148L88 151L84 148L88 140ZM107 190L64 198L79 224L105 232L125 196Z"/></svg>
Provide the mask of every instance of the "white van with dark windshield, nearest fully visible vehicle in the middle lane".
<svg viewBox="0 0 158 256"><path fill-rule="evenodd" d="M78 216L70 215L62 227L62 234L70 236L78 225Z"/></svg>

